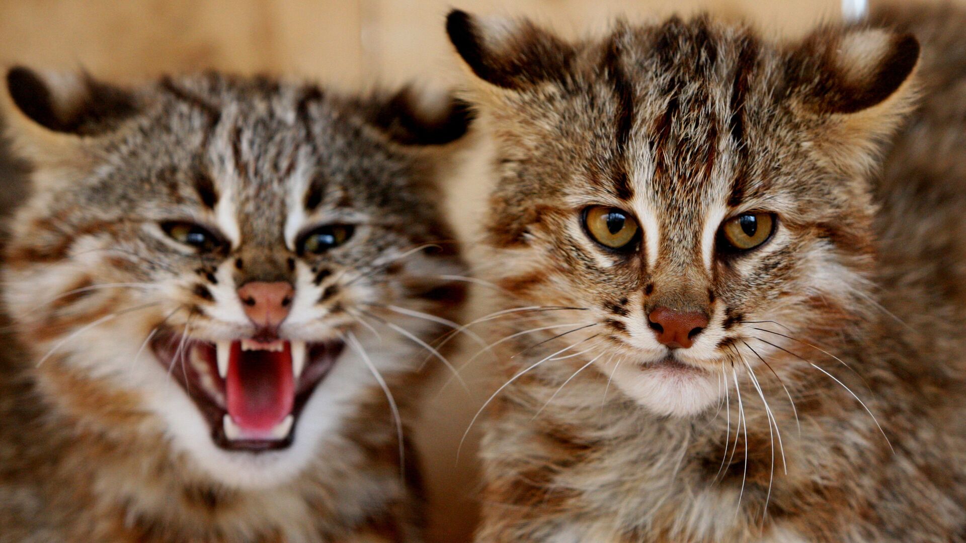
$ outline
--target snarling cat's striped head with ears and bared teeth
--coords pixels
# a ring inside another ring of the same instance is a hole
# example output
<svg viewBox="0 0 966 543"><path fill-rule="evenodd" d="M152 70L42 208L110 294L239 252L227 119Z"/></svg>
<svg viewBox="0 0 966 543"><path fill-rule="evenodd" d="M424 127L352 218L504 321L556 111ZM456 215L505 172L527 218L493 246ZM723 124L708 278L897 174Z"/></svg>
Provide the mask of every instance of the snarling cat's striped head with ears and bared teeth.
<svg viewBox="0 0 966 543"><path fill-rule="evenodd" d="M161 433L229 485L282 482L383 393L374 374L421 361L391 327L438 331L412 316L460 300L428 144L461 110L215 74L6 82L35 164L6 302L48 400L86 425Z"/></svg>

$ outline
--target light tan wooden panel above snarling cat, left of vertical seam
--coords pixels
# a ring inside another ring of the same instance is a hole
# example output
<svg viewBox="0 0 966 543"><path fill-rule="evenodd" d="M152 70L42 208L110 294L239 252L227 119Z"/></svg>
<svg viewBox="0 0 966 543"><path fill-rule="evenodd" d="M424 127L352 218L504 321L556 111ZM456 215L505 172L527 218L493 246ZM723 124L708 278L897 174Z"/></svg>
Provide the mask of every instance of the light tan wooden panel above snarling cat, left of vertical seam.
<svg viewBox="0 0 966 543"><path fill-rule="evenodd" d="M359 13L356 0L6 0L0 62L115 80L215 68L355 85Z"/></svg>

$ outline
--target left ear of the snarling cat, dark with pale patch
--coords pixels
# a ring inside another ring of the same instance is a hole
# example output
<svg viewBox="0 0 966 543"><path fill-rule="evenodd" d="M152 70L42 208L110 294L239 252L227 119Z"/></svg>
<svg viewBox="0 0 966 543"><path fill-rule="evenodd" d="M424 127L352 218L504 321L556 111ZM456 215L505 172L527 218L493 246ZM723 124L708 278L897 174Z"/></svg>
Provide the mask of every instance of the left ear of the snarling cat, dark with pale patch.
<svg viewBox="0 0 966 543"><path fill-rule="evenodd" d="M0 114L14 153L36 166L80 165L83 139L103 133L133 111L125 91L86 73L7 71Z"/></svg>

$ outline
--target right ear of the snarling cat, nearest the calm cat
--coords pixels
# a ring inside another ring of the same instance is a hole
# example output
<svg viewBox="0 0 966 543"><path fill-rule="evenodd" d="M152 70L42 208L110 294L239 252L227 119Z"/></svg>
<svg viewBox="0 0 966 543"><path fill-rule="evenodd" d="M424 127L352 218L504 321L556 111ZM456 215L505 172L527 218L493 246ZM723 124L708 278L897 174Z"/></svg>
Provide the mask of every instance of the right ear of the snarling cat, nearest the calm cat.
<svg viewBox="0 0 966 543"><path fill-rule="evenodd" d="M418 92L412 87L389 97L357 104L362 117L404 145L442 145L467 133L473 115L469 104L447 93Z"/></svg>

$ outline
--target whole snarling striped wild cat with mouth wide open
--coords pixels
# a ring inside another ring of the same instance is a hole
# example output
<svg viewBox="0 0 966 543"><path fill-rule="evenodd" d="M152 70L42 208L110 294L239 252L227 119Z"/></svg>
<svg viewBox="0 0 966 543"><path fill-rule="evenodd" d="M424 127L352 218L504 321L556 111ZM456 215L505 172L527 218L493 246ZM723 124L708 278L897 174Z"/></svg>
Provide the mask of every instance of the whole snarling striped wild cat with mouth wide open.
<svg viewBox="0 0 966 543"><path fill-rule="evenodd" d="M34 171L4 261L0 541L421 540L403 425L462 300L436 184L465 108L217 73L4 83Z"/></svg>

